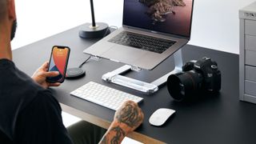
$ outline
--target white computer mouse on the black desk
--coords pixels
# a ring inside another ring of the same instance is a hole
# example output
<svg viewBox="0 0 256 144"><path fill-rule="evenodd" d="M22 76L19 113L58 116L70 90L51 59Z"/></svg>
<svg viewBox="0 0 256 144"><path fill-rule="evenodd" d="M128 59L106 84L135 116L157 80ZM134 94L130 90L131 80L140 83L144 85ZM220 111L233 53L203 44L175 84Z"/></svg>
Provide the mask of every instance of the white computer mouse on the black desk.
<svg viewBox="0 0 256 144"><path fill-rule="evenodd" d="M155 110L154 113L150 116L149 122L154 126L162 126L170 115L174 114L175 110L161 108Z"/></svg>

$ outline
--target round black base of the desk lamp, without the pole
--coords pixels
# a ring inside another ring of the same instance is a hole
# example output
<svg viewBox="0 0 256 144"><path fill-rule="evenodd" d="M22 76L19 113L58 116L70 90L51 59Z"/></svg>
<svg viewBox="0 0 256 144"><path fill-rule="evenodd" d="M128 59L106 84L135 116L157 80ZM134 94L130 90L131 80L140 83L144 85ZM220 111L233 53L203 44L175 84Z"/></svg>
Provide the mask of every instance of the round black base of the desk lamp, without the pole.
<svg viewBox="0 0 256 144"><path fill-rule="evenodd" d="M97 22L96 26L86 23L86 26L79 31L80 38L102 38L107 34L110 34L109 26L102 22Z"/></svg>

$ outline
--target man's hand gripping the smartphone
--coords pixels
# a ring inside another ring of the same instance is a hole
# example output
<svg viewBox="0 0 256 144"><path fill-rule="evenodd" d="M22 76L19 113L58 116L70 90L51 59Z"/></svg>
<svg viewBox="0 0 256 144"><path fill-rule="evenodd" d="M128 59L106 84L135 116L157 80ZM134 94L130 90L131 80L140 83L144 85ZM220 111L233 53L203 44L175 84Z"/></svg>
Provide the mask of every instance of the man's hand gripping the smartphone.
<svg viewBox="0 0 256 144"><path fill-rule="evenodd" d="M40 86L47 88L49 86L60 86L61 83L59 82L55 82L55 83L51 83L51 82L46 82L46 77L56 77L58 76L59 72L58 71L49 71L48 70L48 62L45 62L44 64L42 64L41 67L38 68L38 70L36 70L32 76L32 78L34 79L34 82L37 82Z"/></svg>

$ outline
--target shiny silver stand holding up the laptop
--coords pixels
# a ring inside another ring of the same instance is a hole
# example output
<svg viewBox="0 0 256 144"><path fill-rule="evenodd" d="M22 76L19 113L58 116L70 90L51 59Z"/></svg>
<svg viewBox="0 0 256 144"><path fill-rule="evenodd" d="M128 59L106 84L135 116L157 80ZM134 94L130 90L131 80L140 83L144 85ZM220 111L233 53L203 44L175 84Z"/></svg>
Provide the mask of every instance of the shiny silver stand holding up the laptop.
<svg viewBox="0 0 256 144"><path fill-rule="evenodd" d="M183 65L182 49L179 49L174 53L174 64L175 64L174 70L172 70L170 73L162 76L161 78L158 78L157 80L151 83L142 82L137 79L128 78L121 75L128 70L138 71L137 67L128 66L128 65L122 66L117 70L103 74L102 79L105 80L106 82L112 82L117 85L126 86L131 89L141 91L142 93L153 94L154 92L158 91L158 86L161 86L167 81L167 78L170 76L170 74L176 74L182 71L182 65Z"/></svg>

